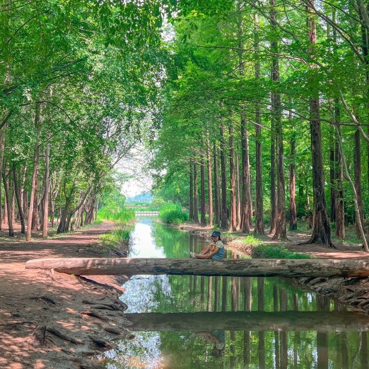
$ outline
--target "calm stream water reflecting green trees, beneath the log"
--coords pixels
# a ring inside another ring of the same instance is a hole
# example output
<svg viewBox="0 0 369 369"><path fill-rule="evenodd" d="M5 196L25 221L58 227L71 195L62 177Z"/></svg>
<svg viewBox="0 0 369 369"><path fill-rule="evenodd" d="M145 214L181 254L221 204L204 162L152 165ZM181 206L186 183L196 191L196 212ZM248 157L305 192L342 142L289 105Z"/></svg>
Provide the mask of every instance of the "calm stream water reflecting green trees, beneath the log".
<svg viewBox="0 0 369 369"><path fill-rule="evenodd" d="M133 235L131 257L186 258L209 244L152 218ZM105 353L106 368L369 368L369 317L291 281L134 276L124 287L136 339Z"/></svg>

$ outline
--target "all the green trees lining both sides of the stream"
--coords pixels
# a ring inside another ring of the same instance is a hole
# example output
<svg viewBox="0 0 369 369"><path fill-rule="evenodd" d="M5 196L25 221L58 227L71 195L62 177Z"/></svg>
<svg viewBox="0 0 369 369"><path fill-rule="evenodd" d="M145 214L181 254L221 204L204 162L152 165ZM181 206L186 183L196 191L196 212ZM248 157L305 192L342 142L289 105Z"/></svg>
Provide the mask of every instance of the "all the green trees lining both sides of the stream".
<svg viewBox="0 0 369 369"><path fill-rule="evenodd" d="M0 226L96 218L151 152L152 193L196 223L368 248L363 0L4 0Z"/></svg>

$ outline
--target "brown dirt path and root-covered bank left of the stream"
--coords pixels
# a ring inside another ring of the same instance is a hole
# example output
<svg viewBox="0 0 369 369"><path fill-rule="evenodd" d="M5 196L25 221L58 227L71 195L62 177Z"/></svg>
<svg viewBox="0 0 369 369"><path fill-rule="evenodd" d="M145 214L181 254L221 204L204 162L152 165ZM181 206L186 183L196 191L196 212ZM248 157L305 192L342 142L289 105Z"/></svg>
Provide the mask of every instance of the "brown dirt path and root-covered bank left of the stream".
<svg viewBox="0 0 369 369"><path fill-rule="evenodd" d="M0 368L99 368L85 357L105 351L107 341L129 335L129 322L122 314L125 305L118 300L121 281L115 277L94 278L93 283L24 268L34 258L110 256L98 238L113 226L105 222L62 238L32 242L16 237L5 243L1 237ZM39 342L43 337L45 341Z"/></svg>

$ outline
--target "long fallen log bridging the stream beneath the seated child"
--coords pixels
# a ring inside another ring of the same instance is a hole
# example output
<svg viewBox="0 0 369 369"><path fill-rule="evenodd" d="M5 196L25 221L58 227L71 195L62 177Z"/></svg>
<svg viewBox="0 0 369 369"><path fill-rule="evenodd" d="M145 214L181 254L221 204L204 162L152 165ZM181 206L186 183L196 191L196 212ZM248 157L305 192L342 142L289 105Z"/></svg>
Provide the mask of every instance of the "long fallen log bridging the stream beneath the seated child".
<svg viewBox="0 0 369 369"><path fill-rule="evenodd" d="M29 260L26 268L76 275L201 275L238 277L368 277L369 260L353 259L127 259Z"/></svg>

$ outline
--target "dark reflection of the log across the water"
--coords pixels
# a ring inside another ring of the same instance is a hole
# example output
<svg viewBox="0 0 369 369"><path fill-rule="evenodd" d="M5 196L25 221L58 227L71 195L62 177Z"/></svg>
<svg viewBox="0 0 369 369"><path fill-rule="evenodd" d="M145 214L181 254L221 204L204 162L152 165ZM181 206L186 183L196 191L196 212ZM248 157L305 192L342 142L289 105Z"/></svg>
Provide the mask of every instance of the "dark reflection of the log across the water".
<svg viewBox="0 0 369 369"><path fill-rule="evenodd" d="M126 314L131 331L369 331L368 316L356 311L237 311Z"/></svg>

